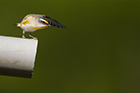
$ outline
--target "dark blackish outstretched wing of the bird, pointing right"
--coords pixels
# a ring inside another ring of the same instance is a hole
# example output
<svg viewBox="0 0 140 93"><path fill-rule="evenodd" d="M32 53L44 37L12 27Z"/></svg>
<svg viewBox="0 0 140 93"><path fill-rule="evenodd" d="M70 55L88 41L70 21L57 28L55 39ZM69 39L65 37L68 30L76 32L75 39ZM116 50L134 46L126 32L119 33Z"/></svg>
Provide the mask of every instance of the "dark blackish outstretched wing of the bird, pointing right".
<svg viewBox="0 0 140 93"><path fill-rule="evenodd" d="M56 21L55 19L52 19L46 15L43 15L43 17L49 22L50 25L60 27L60 28L66 28L64 25Z"/></svg>

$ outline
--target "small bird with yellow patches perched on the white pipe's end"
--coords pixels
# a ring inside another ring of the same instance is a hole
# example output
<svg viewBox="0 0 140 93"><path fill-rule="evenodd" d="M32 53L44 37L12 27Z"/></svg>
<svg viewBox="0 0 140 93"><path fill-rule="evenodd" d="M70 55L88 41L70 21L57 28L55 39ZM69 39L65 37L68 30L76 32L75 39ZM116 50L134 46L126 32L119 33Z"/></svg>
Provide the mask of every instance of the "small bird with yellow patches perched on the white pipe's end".
<svg viewBox="0 0 140 93"><path fill-rule="evenodd" d="M23 30L22 38L25 38L25 32L30 32L29 36L34 40L37 40L37 38L32 36L32 33L39 29L44 29L51 26L66 28L57 20L43 14L28 14L20 23L16 23L14 26L20 27Z"/></svg>

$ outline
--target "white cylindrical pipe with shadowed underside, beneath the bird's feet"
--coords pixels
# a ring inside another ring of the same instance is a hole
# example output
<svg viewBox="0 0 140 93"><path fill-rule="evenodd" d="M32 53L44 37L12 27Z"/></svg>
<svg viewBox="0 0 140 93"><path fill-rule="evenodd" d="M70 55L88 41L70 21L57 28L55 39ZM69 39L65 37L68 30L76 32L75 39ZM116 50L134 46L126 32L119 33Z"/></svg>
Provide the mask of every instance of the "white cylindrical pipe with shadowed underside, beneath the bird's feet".
<svg viewBox="0 0 140 93"><path fill-rule="evenodd" d="M31 78L38 40L0 36L0 75Z"/></svg>

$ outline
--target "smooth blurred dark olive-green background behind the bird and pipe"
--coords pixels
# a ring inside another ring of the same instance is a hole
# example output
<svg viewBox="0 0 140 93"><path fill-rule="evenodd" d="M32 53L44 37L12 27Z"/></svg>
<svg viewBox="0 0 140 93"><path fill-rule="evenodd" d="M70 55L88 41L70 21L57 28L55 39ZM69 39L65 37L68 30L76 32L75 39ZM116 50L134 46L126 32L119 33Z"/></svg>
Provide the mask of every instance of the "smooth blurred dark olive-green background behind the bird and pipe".
<svg viewBox="0 0 140 93"><path fill-rule="evenodd" d="M139 0L0 0L0 35L30 13L67 28L34 32L32 79L0 76L0 93L140 93Z"/></svg>

